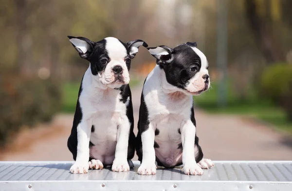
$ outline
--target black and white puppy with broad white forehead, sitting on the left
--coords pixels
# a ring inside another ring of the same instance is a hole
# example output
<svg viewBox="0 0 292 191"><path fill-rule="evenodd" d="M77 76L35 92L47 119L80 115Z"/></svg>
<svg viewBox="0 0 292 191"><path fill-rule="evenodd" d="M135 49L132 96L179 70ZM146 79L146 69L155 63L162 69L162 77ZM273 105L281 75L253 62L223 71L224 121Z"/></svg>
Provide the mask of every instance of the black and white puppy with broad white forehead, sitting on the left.
<svg viewBox="0 0 292 191"><path fill-rule="evenodd" d="M87 173L112 165L112 171L129 171L135 153L133 107L129 88L131 59L143 40L123 43L108 37L93 42L68 36L80 57L90 66L79 89L68 148L75 163L72 173Z"/></svg>

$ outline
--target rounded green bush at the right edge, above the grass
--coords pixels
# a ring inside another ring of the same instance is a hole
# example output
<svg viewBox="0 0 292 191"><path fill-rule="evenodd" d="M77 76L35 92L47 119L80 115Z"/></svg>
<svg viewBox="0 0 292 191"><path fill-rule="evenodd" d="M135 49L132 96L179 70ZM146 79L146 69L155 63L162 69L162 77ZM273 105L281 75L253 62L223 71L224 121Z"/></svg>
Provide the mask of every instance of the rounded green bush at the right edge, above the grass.
<svg viewBox="0 0 292 191"><path fill-rule="evenodd" d="M262 94L281 105L292 121L292 65L277 63L267 67L261 85Z"/></svg>

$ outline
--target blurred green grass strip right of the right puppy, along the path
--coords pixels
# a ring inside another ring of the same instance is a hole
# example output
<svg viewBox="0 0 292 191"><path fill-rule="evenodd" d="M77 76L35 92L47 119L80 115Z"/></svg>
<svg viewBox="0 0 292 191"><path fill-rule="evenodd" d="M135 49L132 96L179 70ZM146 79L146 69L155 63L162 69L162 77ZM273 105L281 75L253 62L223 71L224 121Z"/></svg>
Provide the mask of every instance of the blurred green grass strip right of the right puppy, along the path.
<svg viewBox="0 0 292 191"><path fill-rule="evenodd" d="M256 91L246 100L238 99L232 92L230 85L227 90L227 106L218 107L218 85L212 84L213 89L203 93L201 96L194 96L195 104L201 109L212 114L230 114L253 116L262 121L273 124L276 129L292 134L292 122L286 118L282 108L275 106L272 102L257 96Z"/></svg>

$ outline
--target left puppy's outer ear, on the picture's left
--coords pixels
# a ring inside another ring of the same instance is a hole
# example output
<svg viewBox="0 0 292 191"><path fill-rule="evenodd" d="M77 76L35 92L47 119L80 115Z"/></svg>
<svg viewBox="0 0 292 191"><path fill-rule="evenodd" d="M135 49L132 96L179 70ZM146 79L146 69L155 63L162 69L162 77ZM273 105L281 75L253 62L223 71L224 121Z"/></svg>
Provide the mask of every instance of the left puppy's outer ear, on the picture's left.
<svg viewBox="0 0 292 191"><path fill-rule="evenodd" d="M90 39L84 38L84 37L68 36L68 38L69 38L70 42L72 43L73 47L79 53L80 57L87 59L90 56L94 42L92 42Z"/></svg>

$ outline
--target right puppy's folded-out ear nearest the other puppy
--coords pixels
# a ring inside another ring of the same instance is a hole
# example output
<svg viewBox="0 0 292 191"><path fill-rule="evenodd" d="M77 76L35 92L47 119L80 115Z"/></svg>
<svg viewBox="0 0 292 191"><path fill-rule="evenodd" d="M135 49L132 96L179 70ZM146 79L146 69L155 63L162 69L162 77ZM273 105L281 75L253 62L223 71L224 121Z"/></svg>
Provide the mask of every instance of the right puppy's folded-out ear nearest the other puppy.
<svg viewBox="0 0 292 191"><path fill-rule="evenodd" d="M158 65L165 64L167 61L171 59L171 54L174 53L174 50L172 48L169 48L167 46L157 46L157 47L151 47L147 48L149 53L157 59L156 63Z"/></svg>

